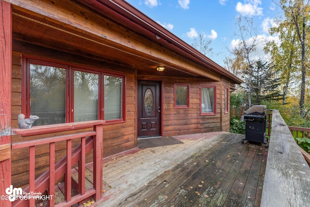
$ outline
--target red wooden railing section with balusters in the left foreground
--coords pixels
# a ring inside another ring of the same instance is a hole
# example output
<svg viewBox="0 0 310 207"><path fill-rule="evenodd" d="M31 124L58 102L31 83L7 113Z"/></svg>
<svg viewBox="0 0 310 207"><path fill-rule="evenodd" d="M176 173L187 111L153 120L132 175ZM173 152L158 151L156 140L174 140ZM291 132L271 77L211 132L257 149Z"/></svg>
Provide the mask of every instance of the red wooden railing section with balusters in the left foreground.
<svg viewBox="0 0 310 207"><path fill-rule="evenodd" d="M93 197L96 201L102 196L102 142L104 121L85 121L66 124L46 125L32 127L30 129L12 129L12 135L20 134L22 137L31 135L43 135L46 138L12 143L12 149L29 148L29 186L23 190L23 194L47 191L48 206L69 207L80 203L84 199ZM91 128L86 132L75 132L74 129ZM68 131L66 135L49 137L49 133ZM80 139L80 144L72 150L72 141ZM65 141L66 156L55 163L55 143ZM49 170L35 179L35 147L41 144L49 144ZM85 191L85 157L93 149L93 188ZM71 169L78 163L78 194L71 195ZM64 175L64 201L55 205L55 182ZM35 206L37 197L20 199L13 202L13 206Z"/></svg>

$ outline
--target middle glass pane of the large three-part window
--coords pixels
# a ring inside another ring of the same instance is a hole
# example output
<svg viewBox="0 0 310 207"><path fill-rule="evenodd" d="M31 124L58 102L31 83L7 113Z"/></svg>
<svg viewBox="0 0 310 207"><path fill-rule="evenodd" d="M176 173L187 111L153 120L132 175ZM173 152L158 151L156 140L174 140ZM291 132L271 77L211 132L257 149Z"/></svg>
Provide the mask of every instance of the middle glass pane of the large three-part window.
<svg viewBox="0 0 310 207"><path fill-rule="evenodd" d="M99 75L74 71L74 121L98 119Z"/></svg>

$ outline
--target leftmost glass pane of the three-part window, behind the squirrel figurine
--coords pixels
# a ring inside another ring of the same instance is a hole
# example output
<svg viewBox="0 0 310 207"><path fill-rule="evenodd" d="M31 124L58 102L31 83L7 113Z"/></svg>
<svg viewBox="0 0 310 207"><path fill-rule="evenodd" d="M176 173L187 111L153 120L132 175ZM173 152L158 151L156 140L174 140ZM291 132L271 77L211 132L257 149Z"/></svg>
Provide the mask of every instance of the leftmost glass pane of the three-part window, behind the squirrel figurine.
<svg viewBox="0 0 310 207"><path fill-rule="evenodd" d="M30 113L33 126L65 123L65 68L30 64Z"/></svg>

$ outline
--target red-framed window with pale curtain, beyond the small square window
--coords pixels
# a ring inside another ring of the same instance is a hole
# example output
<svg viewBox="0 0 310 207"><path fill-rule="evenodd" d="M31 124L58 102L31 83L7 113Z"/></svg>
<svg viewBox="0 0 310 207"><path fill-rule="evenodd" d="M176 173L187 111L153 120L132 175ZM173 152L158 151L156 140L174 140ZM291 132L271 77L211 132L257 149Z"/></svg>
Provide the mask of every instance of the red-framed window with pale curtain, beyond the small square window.
<svg viewBox="0 0 310 207"><path fill-rule="evenodd" d="M201 86L201 114L216 114L216 86Z"/></svg>

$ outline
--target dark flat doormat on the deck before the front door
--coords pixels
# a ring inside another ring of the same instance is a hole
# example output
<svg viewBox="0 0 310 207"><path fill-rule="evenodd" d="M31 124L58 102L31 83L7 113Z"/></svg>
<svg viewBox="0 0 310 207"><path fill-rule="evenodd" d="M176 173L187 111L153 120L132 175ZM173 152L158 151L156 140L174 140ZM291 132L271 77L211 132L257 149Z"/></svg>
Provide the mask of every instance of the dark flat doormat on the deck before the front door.
<svg viewBox="0 0 310 207"><path fill-rule="evenodd" d="M157 138L146 138L138 139L138 148L150 148L156 146L167 146L172 144L183 144L180 140L173 137L157 137Z"/></svg>

